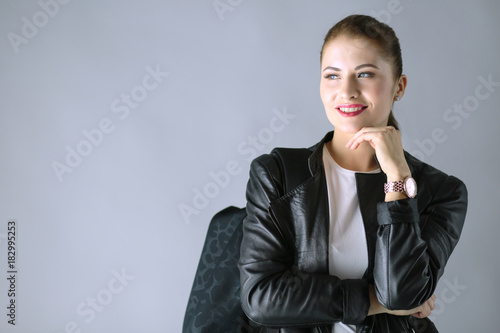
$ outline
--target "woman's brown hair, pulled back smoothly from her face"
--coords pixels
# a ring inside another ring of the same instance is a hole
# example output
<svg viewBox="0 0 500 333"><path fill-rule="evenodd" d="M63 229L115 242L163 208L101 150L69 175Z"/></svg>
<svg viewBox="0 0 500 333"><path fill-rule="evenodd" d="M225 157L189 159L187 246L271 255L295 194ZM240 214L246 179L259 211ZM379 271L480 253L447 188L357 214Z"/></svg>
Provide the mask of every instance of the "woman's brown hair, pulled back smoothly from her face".
<svg viewBox="0 0 500 333"><path fill-rule="evenodd" d="M403 58L401 46L394 30L385 23L367 15L350 15L335 24L326 34L321 47L320 61L323 60L323 51L328 42L336 37L344 35L353 38L365 38L373 42L381 56L387 60L393 68L395 80L403 73ZM399 124L392 113L389 114L388 126L399 129Z"/></svg>

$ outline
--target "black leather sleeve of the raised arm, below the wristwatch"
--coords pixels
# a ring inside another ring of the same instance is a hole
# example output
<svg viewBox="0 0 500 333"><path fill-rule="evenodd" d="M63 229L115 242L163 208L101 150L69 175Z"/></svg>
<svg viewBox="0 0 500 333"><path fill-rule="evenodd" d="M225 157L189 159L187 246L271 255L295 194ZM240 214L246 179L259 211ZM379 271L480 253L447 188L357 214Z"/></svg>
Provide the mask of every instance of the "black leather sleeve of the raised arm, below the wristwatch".
<svg viewBox="0 0 500 333"><path fill-rule="evenodd" d="M432 296L462 232L465 185L444 175L423 191L430 197L426 203L420 204L417 196L377 207L375 289L380 303L391 310L415 308Z"/></svg>

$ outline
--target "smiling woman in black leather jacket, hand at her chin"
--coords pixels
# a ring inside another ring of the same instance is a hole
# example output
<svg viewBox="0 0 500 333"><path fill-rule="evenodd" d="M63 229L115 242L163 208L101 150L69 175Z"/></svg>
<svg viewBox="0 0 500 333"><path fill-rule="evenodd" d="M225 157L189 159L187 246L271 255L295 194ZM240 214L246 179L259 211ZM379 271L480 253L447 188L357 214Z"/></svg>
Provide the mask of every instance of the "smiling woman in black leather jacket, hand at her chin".
<svg viewBox="0 0 500 333"><path fill-rule="evenodd" d="M262 332L437 332L427 317L467 191L403 150L392 106L406 85L389 26L353 15L330 29L320 94L334 131L294 188L275 151L251 165L241 301Z"/></svg>

